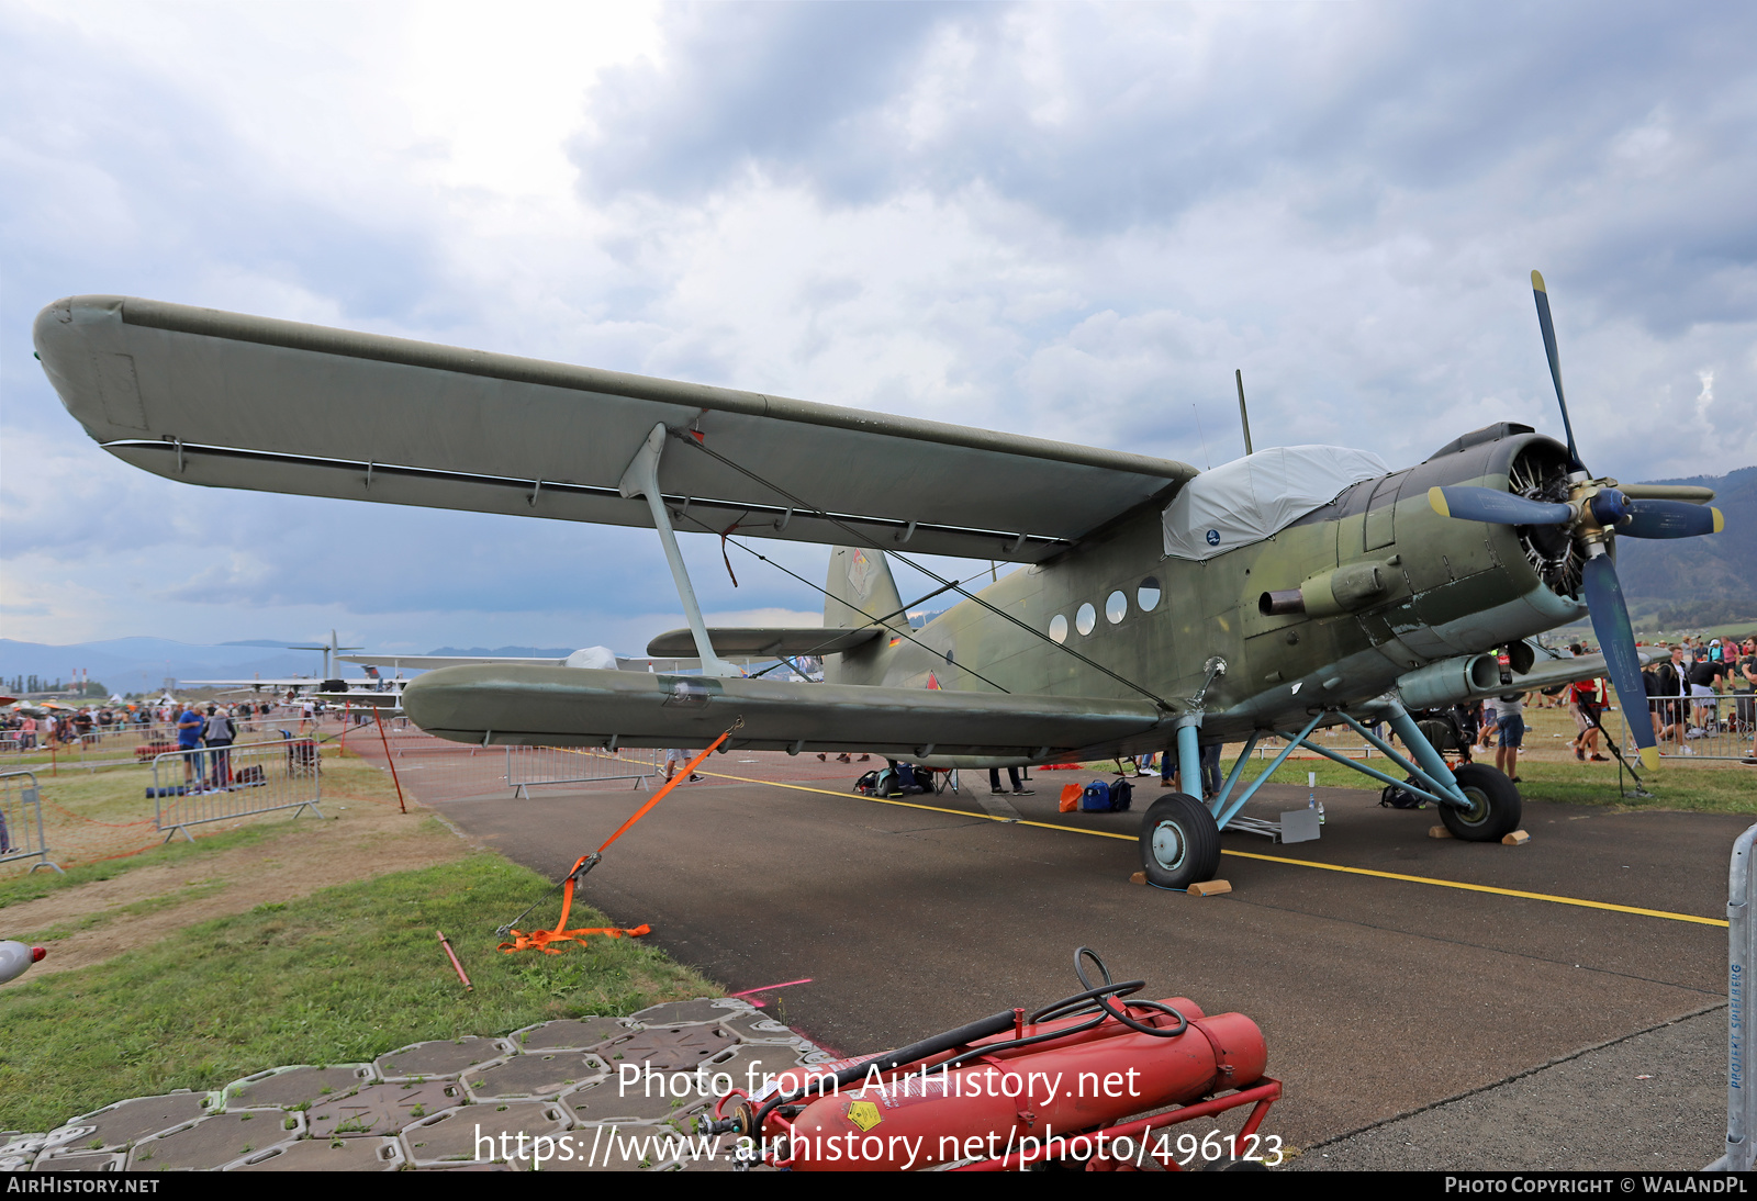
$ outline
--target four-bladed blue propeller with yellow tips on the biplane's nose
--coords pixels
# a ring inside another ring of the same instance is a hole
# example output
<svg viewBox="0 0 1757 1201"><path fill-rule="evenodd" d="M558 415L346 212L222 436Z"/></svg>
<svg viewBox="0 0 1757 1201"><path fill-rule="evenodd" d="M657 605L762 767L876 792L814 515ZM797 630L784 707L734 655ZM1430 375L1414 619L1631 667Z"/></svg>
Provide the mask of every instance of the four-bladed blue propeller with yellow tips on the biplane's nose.
<svg viewBox="0 0 1757 1201"><path fill-rule="evenodd" d="M1567 395L1562 392L1562 360L1555 348L1555 321L1550 318L1550 293L1543 276L1532 272L1532 293L1537 298L1537 325L1543 330L1543 348L1550 358L1550 379L1555 399L1562 406L1562 428L1567 432L1567 500L1534 500L1495 488L1450 486L1430 488L1428 504L1441 516L1490 525L1560 527L1557 532L1571 539L1581 557L1581 590L1592 613L1592 632L1604 650L1604 662L1616 688L1623 715L1645 713L1646 688L1641 687L1641 658L1636 653L1634 627L1623 604L1623 588L1616 579L1616 564L1609 555L1615 534L1625 537L1699 537L1718 534L1725 527L1720 509L1676 499L1688 495L1710 500L1706 488L1685 490L1667 486L1632 485L1620 488L1615 479L1595 479L1580 460L1574 446L1574 427L1567 418ZM1664 495L1660 495L1664 493ZM1629 722L1641 764L1659 767L1659 746L1650 722Z"/></svg>

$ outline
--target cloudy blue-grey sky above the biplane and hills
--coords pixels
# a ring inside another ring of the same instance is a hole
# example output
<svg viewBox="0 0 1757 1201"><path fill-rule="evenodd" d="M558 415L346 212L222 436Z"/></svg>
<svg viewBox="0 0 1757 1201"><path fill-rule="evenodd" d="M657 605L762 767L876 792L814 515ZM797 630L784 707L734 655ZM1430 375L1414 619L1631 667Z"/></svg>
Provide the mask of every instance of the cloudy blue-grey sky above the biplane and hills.
<svg viewBox="0 0 1757 1201"><path fill-rule="evenodd" d="M650 532L125 467L30 356L72 293L1198 467L1242 451L1237 367L1258 446L1406 465L1558 432L1537 267L1594 471L1753 464L1752 46L1750 4L4 2L0 634L682 623ZM685 541L719 620L819 611Z"/></svg>

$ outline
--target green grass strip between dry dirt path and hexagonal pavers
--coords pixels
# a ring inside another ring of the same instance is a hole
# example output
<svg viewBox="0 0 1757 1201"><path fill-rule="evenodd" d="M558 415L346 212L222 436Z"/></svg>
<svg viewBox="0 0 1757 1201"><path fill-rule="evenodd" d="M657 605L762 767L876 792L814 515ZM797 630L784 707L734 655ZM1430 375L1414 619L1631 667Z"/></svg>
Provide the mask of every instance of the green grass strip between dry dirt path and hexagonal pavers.
<svg viewBox="0 0 1757 1201"><path fill-rule="evenodd" d="M281 1064L358 1062L420 1039L719 994L638 939L594 938L560 955L497 952L494 927L548 887L476 853L257 906L93 967L26 976L0 992L0 1129L51 1129L123 1097L220 1089ZM555 906L532 918L553 922ZM569 920L608 924L578 906ZM434 929L457 948L473 994Z"/></svg>

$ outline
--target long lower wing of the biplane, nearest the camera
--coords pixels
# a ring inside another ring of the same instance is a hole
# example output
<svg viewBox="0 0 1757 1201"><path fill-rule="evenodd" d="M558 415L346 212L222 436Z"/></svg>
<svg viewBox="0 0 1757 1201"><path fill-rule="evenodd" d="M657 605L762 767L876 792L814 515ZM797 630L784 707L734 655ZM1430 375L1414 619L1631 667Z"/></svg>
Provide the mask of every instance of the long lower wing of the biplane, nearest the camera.
<svg viewBox="0 0 1757 1201"><path fill-rule="evenodd" d="M1140 701L508 665L427 672L402 706L459 743L689 748L731 729L731 748L912 760L1049 762L1161 725Z"/></svg>

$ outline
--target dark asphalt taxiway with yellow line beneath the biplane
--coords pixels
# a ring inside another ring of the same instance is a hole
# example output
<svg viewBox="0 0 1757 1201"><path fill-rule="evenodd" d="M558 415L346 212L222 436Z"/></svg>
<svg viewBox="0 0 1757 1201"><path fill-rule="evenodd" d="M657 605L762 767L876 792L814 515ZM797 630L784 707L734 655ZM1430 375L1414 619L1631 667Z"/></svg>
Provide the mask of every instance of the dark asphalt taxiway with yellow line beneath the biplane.
<svg viewBox="0 0 1757 1201"><path fill-rule="evenodd" d="M1722 1150L1713 1006L1725 1001L1727 855L1748 818L1527 804L1530 843L1471 845L1428 838L1432 811L1321 788L1320 841L1226 834L1233 892L1197 899L1128 880L1156 787L1137 790L1133 813L1063 815L1054 794L1074 773L1038 773L1037 795L1005 804L970 792L970 774L963 794L880 804L847 792L857 769L812 757L734 752L705 773L604 855L583 895L618 924L650 924L654 943L729 990L810 978L771 996L771 1011L829 1048L875 1052L1068 996L1074 950L1091 946L1117 978L1146 978L1144 996L1254 1018L1286 1083L1263 1129L1320 1147L1318 1159L1353 1159L1327 1148L1441 1103L1493 1127L1497 1087L1606 1043L1623 1048L1618 1064L1671 1066L1573 1089L1565 1162L1622 1162L1616 1145L1655 1108L1660 1076L1701 1118L1659 1104L1669 1117L1643 1166L1699 1168ZM1269 787L1249 811L1304 806L1305 792ZM436 808L559 878L648 795L559 785ZM1704 1017L1673 1025L1688 1015ZM1706 1039L1683 1073L1680 1029ZM1518 1115L1532 1104L1499 1106L1504 1124L1530 1129ZM1397 1166L1483 1166L1479 1147L1439 1140Z"/></svg>

